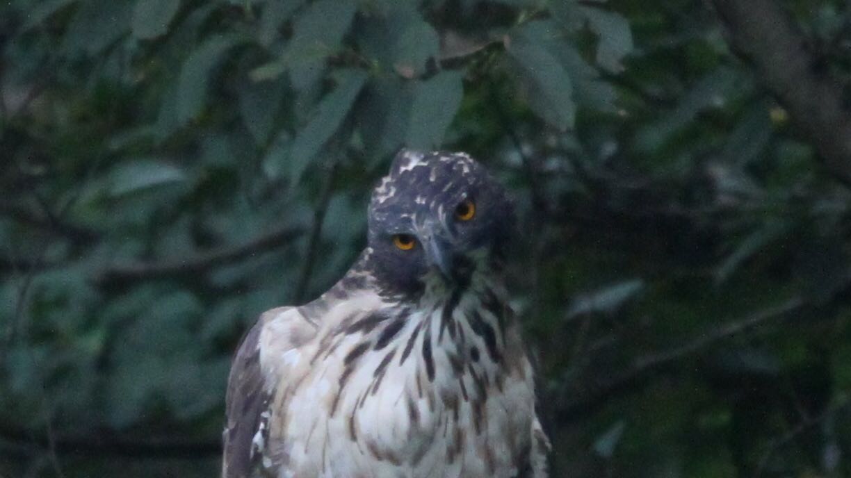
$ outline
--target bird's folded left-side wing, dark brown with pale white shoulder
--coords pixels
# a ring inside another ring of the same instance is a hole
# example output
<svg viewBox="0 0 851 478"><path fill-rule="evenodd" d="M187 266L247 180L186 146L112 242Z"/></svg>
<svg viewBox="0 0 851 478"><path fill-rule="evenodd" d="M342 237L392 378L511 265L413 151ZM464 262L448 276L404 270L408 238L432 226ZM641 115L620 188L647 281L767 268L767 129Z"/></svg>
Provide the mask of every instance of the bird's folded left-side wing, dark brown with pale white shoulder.
<svg viewBox="0 0 851 478"><path fill-rule="evenodd" d="M249 478L262 457L268 434L270 399L282 379L277 364L262 356L280 356L316 334L316 324L300 307L267 310L248 331L231 365L225 396L223 478ZM274 349L274 350L270 350Z"/></svg>

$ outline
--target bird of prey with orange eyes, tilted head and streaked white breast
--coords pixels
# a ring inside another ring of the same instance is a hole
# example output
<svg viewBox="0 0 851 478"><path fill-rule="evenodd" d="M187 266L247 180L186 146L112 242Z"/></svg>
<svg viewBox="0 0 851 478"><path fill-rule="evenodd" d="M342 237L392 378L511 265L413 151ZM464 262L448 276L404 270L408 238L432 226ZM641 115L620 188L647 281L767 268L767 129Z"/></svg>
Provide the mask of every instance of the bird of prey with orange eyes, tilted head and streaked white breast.
<svg viewBox="0 0 851 478"><path fill-rule="evenodd" d="M505 189L470 156L399 152L346 276L266 311L243 339L224 477L546 476L502 279L513 223Z"/></svg>

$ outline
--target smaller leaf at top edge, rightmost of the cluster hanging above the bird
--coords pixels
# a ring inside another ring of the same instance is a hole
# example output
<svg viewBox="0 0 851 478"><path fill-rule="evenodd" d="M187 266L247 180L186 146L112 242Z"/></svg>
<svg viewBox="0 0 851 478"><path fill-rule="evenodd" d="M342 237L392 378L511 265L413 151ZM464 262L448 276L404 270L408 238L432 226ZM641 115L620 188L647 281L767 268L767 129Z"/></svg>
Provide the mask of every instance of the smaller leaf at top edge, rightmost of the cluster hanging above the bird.
<svg viewBox="0 0 851 478"><path fill-rule="evenodd" d="M591 30L597 34L597 65L604 70L620 73L621 60L632 51L630 23L623 15L603 9L580 7Z"/></svg>

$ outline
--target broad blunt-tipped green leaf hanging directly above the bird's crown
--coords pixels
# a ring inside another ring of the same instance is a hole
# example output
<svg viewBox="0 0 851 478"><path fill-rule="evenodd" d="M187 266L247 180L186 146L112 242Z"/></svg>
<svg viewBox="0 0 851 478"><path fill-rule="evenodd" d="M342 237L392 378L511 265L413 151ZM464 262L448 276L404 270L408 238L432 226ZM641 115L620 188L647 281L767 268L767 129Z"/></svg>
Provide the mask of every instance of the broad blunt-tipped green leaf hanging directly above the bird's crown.
<svg viewBox="0 0 851 478"><path fill-rule="evenodd" d="M443 71L414 86L414 103L405 143L414 149L441 145L464 96L459 71Z"/></svg>

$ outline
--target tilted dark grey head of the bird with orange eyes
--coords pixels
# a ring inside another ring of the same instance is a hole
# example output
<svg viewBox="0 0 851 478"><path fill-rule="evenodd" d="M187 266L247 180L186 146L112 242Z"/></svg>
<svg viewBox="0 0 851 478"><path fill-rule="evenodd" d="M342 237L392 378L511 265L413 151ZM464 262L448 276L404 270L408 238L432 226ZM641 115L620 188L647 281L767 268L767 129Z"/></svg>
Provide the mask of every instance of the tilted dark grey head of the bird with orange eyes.
<svg viewBox="0 0 851 478"><path fill-rule="evenodd" d="M372 269L402 292L466 287L498 267L513 225L505 188L470 156L403 150L369 204Z"/></svg>

